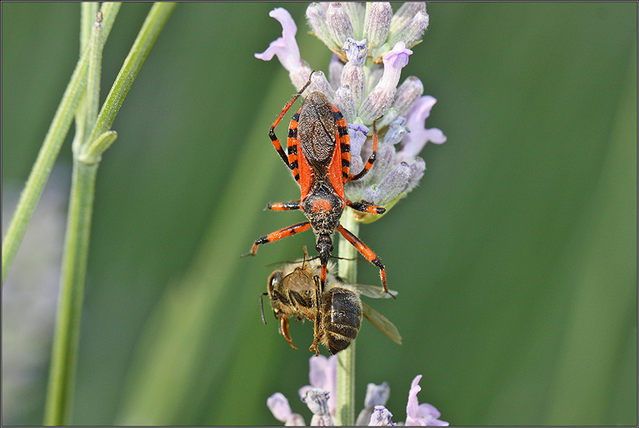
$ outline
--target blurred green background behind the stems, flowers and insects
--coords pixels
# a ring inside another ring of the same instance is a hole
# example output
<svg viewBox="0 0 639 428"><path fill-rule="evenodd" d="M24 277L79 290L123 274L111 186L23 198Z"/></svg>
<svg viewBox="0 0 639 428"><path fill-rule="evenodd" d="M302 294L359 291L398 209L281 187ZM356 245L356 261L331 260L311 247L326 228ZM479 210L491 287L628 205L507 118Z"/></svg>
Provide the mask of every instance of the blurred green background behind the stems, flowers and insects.
<svg viewBox="0 0 639 428"><path fill-rule="evenodd" d="M275 6L295 18L302 58L327 71L307 4L179 4L114 122L73 424L280 424L266 407L273 392L310 422L297 389L312 327L295 323L293 350L270 316L261 322L258 295L268 264L300 257L313 235L239 258L302 220L263 210L298 192L268 139L295 90L278 61L253 57L280 36ZM122 6L102 100L150 7ZM75 67L80 4L1 8L4 235ZM428 4L403 77L437 98L427 127L448 141L427 145L421 185L361 228L400 293L372 304L404 343L364 323L356 411L366 384L386 380L393 420L405 420L422 374L420 402L454 425L638 423L637 8ZM57 232L29 231L39 241L26 238L3 291L3 424L42 422L55 289L44 302L42 292L8 296L28 293L25 264L48 269L55 288L59 250L46 263L38 251L61 245L70 162L68 138L36 213ZM43 205L55 191L57 208ZM359 282L377 284L377 269L359 262ZM31 313L48 316L11 315Z"/></svg>

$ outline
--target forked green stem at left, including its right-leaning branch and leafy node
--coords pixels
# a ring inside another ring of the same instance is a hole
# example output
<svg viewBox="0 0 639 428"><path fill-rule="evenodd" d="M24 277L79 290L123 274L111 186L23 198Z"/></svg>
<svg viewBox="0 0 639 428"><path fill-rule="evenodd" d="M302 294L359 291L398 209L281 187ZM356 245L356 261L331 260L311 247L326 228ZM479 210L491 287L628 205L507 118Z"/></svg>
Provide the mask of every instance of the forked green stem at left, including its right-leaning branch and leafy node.
<svg viewBox="0 0 639 428"><path fill-rule="evenodd" d="M87 111L79 114L81 119L87 121L86 129L92 129L92 133L84 141L76 139L73 147L72 187L60 279L60 303L45 403L47 425L70 424L94 188L100 156L115 140L116 133L110 131L109 127L174 8L175 4L153 5L98 116L100 62L104 43L100 42L103 28L99 21L93 27L87 50L90 54L88 70L85 72L89 75L84 100Z"/></svg>

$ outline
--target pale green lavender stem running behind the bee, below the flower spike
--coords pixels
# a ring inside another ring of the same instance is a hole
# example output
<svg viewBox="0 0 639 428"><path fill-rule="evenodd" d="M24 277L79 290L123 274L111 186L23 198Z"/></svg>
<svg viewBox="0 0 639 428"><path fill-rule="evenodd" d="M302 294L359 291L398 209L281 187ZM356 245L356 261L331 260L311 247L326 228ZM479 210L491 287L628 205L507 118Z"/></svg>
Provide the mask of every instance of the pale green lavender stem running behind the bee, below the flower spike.
<svg viewBox="0 0 639 428"><path fill-rule="evenodd" d="M359 223L355 220L351 208L342 215L342 226L358 235ZM357 249L339 235L339 277L347 283L357 282ZM355 424L355 341L351 346L337 354L337 414L335 423L343 426Z"/></svg>

